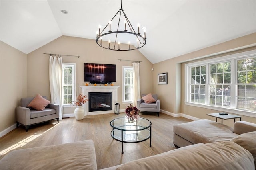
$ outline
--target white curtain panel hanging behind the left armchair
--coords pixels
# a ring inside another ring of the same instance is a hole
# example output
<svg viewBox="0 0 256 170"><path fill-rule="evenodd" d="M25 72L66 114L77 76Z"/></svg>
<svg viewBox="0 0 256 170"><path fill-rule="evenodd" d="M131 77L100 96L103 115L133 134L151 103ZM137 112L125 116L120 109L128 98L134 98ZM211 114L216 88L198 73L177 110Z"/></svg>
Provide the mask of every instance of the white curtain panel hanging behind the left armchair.
<svg viewBox="0 0 256 170"><path fill-rule="evenodd" d="M52 57L50 55L49 78L51 103L60 106L59 120L62 120L62 57Z"/></svg>

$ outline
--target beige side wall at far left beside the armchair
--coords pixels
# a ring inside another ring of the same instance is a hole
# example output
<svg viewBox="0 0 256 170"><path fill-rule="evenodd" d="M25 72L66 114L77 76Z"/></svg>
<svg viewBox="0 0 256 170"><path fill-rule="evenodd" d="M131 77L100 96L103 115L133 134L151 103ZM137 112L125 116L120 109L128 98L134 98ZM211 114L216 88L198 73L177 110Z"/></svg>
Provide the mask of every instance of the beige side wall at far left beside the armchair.
<svg viewBox="0 0 256 170"><path fill-rule="evenodd" d="M0 132L16 123L15 108L27 95L27 55L0 41Z"/></svg>

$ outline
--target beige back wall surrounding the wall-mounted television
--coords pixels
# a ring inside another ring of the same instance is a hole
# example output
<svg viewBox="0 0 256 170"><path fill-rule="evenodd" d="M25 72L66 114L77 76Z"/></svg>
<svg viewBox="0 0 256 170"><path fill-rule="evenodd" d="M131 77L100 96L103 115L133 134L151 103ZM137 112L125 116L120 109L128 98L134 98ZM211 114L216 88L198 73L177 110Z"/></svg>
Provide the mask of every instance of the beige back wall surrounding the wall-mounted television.
<svg viewBox="0 0 256 170"><path fill-rule="evenodd" d="M84 63L116 64L117 75L114 85L120 86L118 88L118 102L121 109L125 109L127 106L127 104L122 104L122 66L132 66L132 62L119 61L118 59L142 61L140 63L141 93L152 92L153 64L138 50L106 50L100 48L92 39L62 36L28 54L28 96L35 96L39 93L50 99L49 55L43 53L80 56L79 58L63 56L64 63L76 63L77 91L79 86L85 84ZM67 111L64 111L64 113L67 113Z"/></svg>

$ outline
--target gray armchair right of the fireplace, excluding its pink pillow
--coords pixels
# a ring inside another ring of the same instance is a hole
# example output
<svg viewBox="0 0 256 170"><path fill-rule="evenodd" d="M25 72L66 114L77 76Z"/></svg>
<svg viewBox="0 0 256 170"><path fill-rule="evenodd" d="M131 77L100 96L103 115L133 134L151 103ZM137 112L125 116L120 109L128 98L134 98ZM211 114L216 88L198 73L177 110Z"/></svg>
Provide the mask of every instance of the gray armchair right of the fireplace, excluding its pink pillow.
<svg viewBox="0 0 256 170"><path fill-rule="evenodd" d="M142 94L142 97L146 96ZM157 98L157 94L152 94L153 98L156 100L154 103L145 103L142 99L137 100L137 108L140 111L146 112L157 112L157 116L159 116L160 112L160 100Z"/></svg>

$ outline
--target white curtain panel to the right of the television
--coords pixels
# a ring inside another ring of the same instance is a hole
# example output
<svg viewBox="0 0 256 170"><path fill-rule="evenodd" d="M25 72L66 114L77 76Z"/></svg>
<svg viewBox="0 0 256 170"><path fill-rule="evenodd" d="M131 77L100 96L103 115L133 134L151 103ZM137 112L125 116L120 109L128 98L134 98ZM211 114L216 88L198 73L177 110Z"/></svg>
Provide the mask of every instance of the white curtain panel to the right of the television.
<svg viewBox="0 0 256 170"><path fill-rule="evenodd" d="M137 105L137 100L141 98L140 96L140 63L132 63L133 67L133 106Z"/></svg>

